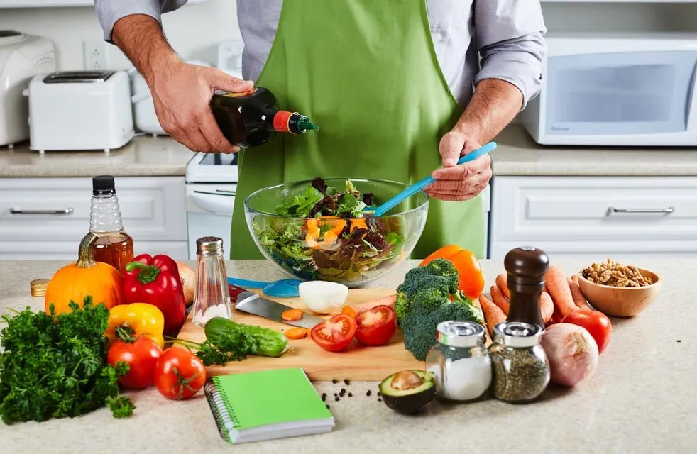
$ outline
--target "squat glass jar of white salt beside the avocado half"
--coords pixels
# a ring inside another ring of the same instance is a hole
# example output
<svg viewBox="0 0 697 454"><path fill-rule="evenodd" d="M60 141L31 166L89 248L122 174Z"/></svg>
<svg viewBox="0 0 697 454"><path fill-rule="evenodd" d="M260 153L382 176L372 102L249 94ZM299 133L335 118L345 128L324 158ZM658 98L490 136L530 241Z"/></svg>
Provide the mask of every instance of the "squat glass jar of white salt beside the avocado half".
<svg viewBox="0 0 697 454"><path fill-rule="evenodd" d="M491 384L491 360L484 347L484 328L471 321L444 321L438 343L426 356L426 370L436 380L436 395L451 401L485 397Z"/></svg>

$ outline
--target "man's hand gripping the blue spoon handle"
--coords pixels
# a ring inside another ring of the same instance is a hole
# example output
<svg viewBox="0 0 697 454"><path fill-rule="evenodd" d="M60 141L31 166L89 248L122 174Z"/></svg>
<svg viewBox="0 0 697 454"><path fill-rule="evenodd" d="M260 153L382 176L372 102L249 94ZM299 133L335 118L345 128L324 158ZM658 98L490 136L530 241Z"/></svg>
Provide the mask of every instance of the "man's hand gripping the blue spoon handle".
<svg viewBox="0 0 697 454"><path fill-rule="evenodd" d="M439 146L443 168L433 172L438 181L427 187L426 193L435 199L464 201L482 192L491 179L491 160L483 155L466 164L456 165L461 156L481 145L468 135L451 131L443 136Z"/></svg>

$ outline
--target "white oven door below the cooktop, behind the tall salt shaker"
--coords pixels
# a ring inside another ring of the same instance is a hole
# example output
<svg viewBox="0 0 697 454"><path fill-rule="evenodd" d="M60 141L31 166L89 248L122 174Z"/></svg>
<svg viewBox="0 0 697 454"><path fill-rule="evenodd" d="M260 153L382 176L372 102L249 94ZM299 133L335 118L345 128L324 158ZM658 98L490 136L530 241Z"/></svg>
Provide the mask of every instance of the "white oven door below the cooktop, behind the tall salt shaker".
<svg viewBox="0 0 697 454"><path fill-rule="evenodd" d="M223 239L230 255L230 228L236 184L187 184L187 228L189 258L196 259L196 240L203 236Z"/></svg>

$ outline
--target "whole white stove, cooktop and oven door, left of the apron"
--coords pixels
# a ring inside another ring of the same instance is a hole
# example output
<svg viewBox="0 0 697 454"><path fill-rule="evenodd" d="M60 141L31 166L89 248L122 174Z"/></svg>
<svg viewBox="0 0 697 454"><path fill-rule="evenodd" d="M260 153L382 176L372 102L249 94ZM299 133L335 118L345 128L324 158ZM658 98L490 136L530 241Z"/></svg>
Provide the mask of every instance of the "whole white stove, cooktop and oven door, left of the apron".
<svg viewBox="0 0 697 454"><path fill-rule="evenodd" d="M190 260L196 259L197 238L217 236L229 241L237 179L237 154L196 153L189 161L186 206Z"/></svg>

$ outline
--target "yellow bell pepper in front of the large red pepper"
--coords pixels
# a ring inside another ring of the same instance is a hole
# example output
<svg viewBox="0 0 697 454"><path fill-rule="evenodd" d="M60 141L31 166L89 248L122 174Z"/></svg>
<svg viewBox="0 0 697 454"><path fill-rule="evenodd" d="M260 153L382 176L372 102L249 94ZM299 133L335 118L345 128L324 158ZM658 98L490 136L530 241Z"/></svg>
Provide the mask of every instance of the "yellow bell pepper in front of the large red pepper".
<svg viewBox="0 0 697 454"><path fill-rule="evenodd" d="M165 338L165 316L157 306L146 303L119 304L109 309L109 327L106 328L106 337L109 338L109 346L116 342L116 327L127 326L133 329L133 336L147 336L163 347Z"/></svg>

